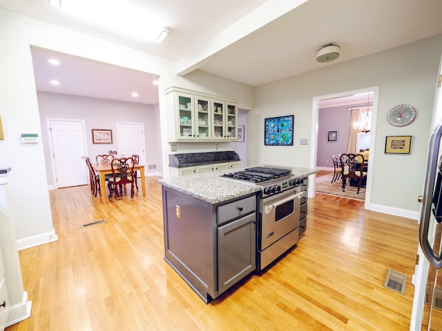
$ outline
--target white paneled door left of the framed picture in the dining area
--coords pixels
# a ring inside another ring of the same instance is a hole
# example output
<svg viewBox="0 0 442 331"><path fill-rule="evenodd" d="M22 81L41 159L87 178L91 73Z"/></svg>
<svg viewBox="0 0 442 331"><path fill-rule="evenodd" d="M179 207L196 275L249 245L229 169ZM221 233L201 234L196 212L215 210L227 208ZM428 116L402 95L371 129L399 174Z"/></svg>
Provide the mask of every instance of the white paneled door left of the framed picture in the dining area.
<svg viewBox="0 0 442 331"><path fill-rule="evenodd" d="M83 121L50 120L52 156L58 188L86 185L88 172Z"/></svg>

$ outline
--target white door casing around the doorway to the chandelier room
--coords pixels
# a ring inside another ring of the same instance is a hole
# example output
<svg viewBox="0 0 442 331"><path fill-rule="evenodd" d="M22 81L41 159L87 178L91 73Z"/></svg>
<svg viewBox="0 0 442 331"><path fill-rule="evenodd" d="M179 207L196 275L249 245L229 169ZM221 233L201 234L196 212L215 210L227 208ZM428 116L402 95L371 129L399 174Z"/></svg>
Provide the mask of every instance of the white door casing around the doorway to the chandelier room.
<svg viewBox="0 0 442 331"><path fill-rule="evenodd" d="M368 161L368 170L367 170L367 184L366 184L366 192L365 192L365 209L370 209L370 197L371 197L371 188L372 188L372 171L374 164L374 146L376 142L376 118L377 118L377 109L378 109L378 95L379 95L379 87L373 86L369 88L363 88L360 90L350 90L345 92L338 92L335 94L327 94L323 96L318 96L313 98L313 109L312 109L312 128L311 128L311 168L316 168L317 163L317 154L318 154L318 137L320 136L320 132L318 131L318 123L319 123L319 106L321 101L333 101L338 98L349 98L352 96L357 96L358 94L365 94L365 98L367 98L367 93L372 92L372 119L371 119L371 130L370 130L370 142L369 142L369 151L370 157ZM365 99L367 101L367 99ZM344 138L345 139L345 138ZM347 138L348 139L348 138ZM331 156L330 156L331 157ZM316 190L316 184L314 181L311 181L313 185L311 185L312 191L309 192L309 197L314 197L314 192Z"/></svg>

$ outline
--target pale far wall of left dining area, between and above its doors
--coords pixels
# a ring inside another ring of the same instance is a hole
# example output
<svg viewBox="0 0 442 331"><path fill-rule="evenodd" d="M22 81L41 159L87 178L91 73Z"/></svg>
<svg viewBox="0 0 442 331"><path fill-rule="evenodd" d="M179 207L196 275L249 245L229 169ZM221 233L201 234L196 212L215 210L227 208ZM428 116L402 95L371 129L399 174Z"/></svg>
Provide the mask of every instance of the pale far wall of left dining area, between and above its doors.
<svg viewBox="0 0 442 331"><path fill-rule="evenodd" d="M144 123L146 164L157 164L157 170L147 170L147 172L162 171L162 154L161 150L157 148L161 144L160 134L155 134L160 128L157 106L50 92L37 92L37 99L48 185L54 185L48 146L49 137L46 121L48 118L84 120L86 124L87 156L92 161L95 161L97 154L107 154L109 150L118 151L117 121ZM106 145L94 144L92 142L92 129L112 130L113 143Z"/></svg>

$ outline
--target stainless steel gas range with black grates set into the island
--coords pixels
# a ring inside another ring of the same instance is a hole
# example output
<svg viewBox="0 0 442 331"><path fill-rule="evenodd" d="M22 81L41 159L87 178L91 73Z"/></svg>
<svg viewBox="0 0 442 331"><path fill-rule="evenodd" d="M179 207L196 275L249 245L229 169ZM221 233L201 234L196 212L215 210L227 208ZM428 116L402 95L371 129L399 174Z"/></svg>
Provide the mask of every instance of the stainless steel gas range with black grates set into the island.
<svg viewBox="0 0 442 331"><path fill-rule="evenodd" d="M223 177L259 185L257 270L267 267L298 243L305 231L308 179L291 170L254 167L224 174Z"/></svg>

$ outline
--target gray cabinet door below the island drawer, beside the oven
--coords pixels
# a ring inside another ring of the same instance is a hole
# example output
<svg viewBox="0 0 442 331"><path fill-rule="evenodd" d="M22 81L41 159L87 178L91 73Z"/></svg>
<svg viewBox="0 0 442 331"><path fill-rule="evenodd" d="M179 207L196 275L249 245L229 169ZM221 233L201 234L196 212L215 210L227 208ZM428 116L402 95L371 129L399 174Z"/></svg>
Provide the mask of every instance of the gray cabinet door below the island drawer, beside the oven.
<svg viewBox="0 0 442 331"><path fill-rule="evenodd" d="M218 228L218 294L256 270L256 214Z"/></svg>

